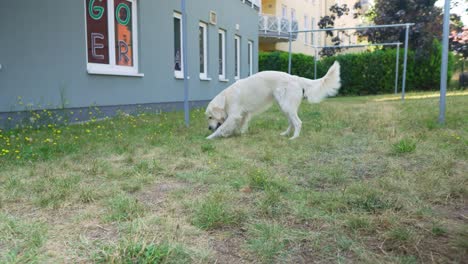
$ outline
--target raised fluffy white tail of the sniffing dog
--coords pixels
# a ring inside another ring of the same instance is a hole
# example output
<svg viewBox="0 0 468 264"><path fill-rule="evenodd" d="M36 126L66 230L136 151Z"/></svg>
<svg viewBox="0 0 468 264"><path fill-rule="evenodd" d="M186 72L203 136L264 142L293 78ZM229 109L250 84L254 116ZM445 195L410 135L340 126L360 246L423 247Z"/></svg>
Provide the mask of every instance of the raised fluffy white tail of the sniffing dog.
<svg viewBox="0 0 468 264"><path fill-rule="evenodd" d="M330 67L327 74L317 80L300 78L304 96L309 103L320 103L328 96L334 96L341 87L340 64L338 61Z"/></svg>

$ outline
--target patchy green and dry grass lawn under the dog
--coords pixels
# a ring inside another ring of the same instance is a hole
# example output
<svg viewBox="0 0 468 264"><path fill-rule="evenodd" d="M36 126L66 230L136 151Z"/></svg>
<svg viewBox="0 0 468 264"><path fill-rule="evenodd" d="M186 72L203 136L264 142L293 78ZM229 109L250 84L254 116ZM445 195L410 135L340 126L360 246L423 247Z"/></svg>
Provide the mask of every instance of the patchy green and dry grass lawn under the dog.
<svg viewBox="0 0 468 264"><path fill-rule="evenodd" d="M468 93L303 103L207 141L203 110L0 131L0 263L462 263ZM47 112L44 113L47 115Z"/></svg>

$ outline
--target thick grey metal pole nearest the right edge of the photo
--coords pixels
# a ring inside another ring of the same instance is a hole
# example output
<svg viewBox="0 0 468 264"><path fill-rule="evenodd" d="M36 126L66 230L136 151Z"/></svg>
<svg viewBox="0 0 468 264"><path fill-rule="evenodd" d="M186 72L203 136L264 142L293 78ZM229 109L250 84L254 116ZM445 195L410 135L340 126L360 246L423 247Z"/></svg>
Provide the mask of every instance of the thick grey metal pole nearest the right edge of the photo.
<svg viewBox="0 0 468 264"><path fill-rule="evenodd" d="M440 109L439 124L445 123L445 96L447 92L448 70L448 37L450 25L450 0L445 0L444 6L444 33L442 37L442 66L440 70Z"/></svg>

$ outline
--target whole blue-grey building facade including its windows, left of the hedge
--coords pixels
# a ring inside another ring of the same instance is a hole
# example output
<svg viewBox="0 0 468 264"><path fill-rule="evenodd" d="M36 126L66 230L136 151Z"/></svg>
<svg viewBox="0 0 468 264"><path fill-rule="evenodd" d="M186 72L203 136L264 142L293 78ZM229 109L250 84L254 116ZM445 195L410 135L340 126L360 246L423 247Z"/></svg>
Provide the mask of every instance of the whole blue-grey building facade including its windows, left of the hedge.
<svg viewBox="0 0 468 264"><path fill-rule="evenodd" d="M181 0L3 3L0 118L26 109L177 107L184 67L189 100L204 104L257 71L257 4L186 2L186 36Z"/></svg>

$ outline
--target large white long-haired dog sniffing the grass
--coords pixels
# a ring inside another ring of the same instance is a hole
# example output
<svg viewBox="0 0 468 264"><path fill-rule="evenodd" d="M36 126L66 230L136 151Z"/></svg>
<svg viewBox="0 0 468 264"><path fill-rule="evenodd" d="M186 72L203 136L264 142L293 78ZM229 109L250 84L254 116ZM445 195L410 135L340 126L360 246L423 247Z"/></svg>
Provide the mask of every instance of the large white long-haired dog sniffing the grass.
<svg viewBox="0 0 468 264"><path fill-rule="evenodd" d="M288 135L294 127L291 139L295 139L301 132L302 122L297 116L297 110L302 98L306 98L309 103L319 103L325 97L337 94L340 87L338 62L318 80L284 72L259 72L235 82L208 104L208 128L214 132L207 139L228 137L236 132L245 133L252 116L267 110L275 100L289 121L288 129L281 135Z"/></svg>

